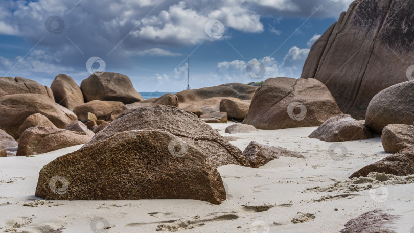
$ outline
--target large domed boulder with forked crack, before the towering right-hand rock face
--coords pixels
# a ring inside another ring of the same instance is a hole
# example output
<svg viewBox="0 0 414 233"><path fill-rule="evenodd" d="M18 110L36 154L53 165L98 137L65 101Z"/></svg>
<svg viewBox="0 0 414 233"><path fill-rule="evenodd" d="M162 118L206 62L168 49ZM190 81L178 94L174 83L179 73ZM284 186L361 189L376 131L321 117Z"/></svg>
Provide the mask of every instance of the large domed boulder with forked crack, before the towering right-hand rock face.
<svg viewBox="0 0 414 233"><path fill-rule="evenodd" d="M319 126L341 113L316 79L270 78L256 91L243 124L258 129Z"/></svg>

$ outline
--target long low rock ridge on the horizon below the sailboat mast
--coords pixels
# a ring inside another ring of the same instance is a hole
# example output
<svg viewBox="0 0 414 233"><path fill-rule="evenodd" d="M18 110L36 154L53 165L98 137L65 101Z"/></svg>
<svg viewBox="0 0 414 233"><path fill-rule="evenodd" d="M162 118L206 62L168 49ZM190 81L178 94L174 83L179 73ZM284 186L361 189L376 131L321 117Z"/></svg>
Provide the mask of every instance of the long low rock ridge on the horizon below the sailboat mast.
<svg viewBox="0 0 414 233"><path fill-rule="evenodd" d="M210 98L218 98L218 103L224 98L238 98L241 100L251 100L257 87L242 83L228 83L220 86L205 87L200 89L183 90L175 94L178 97L180 107L193 104L196 106L206 106L212 104L201 104L200 102Z"/></svg>

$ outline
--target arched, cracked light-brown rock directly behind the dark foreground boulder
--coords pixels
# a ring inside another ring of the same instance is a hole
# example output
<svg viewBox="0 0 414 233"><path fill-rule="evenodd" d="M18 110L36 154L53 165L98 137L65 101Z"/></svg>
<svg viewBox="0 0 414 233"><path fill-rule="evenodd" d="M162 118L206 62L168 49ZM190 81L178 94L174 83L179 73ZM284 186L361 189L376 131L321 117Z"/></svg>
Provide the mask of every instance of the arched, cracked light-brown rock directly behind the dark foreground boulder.
<svg viewBox="0 0 414 233"><path fill-rule="evenodd" d="M167 105L126 111L106 129L97 133L85 147L129 130L160 130L172 133L205 153L208 164L212 167L226 164L250 167L242 152L208 124L192 113Z"/></svg>

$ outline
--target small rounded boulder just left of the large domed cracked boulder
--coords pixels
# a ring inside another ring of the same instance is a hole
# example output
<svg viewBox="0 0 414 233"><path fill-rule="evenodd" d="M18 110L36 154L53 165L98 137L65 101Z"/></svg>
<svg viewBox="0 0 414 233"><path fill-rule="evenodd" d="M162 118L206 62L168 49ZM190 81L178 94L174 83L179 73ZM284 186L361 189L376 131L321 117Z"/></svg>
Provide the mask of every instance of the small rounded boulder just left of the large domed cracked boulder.
<svg viewBox="0 0 414 233"><path fill-rule="evenodd" d="M220 111L227 112L229 119L243 121L249 111L250 103L242 100L222 99Z"/></svg>

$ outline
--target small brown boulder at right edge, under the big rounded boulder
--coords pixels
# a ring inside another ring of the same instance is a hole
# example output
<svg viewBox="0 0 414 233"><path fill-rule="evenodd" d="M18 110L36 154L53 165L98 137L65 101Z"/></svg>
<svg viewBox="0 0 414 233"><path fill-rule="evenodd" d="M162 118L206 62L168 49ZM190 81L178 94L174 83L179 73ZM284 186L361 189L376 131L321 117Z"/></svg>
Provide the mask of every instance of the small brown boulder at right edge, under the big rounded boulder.
<svg viewBox="0 0 414 233"><path fill-rule="evenodd" d="M414 127L412 125L387 125L382 130L382 147L387 153L414 146Z"/></svg>

